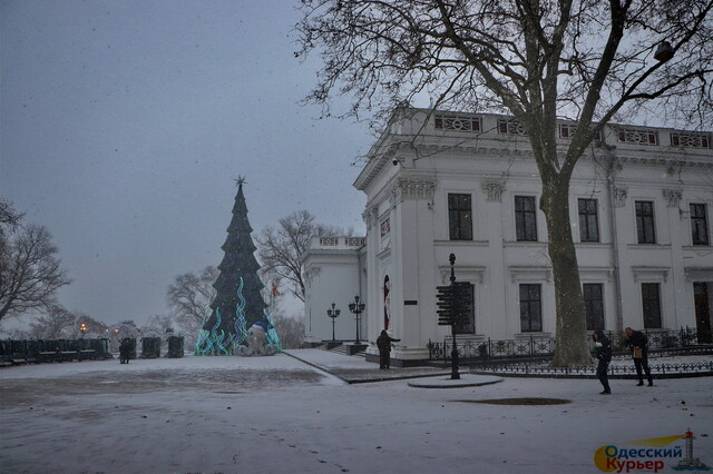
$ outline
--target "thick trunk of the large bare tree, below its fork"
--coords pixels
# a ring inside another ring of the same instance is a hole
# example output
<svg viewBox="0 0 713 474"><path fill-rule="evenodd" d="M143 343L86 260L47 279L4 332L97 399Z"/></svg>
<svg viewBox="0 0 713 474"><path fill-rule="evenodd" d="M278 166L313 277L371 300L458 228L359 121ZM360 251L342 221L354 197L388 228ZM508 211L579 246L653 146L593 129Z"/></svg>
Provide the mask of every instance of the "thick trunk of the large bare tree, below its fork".
<svg viewBox="0 0 713 474"><path fill-rule="evenodd" d="M590 365L577 253L569 220L569 179L553 179L543 188L540 209L547 219L548 250L557 305L553 366Z"/></svg>

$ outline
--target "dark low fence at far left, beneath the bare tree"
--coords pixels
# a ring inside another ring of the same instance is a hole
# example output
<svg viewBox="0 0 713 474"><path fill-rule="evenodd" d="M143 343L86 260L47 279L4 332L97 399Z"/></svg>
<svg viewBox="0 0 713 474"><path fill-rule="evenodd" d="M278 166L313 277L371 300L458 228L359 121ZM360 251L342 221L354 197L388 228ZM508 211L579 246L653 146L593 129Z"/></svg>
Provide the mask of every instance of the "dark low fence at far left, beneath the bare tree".
<svg viewBox="0 0 713 474"><path fill-rule="evenodd" d="M111 358L109 339L2 339L0 366Z"/></svg>

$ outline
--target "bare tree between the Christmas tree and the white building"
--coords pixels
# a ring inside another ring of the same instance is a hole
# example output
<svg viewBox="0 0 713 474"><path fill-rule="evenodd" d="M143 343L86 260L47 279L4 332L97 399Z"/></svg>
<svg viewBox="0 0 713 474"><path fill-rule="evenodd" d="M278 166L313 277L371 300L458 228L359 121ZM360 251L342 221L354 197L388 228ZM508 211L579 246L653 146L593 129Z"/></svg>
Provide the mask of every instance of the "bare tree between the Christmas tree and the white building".
<svg viewBox="0 0 713 474"><path fill-rule="evenodd" d="M313 236L333 236L338 227L316 224L307 210L283 217L277 227L266 226L255 238L264 275L291 285L292 294L304 302L302 255Z"/></svg>

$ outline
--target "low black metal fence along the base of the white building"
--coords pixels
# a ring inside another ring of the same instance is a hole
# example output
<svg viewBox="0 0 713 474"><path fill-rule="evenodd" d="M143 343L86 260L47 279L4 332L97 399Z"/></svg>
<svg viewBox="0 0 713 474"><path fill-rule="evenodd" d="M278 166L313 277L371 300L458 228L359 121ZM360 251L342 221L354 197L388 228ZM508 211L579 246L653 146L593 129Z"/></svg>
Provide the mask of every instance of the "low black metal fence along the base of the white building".
<svg viewBox="0 0 713 474"><path fill-rule="evenodd" d="M606 333L606 332L605 332ZM666 353L695 353L697 347L711 347L703 342L710 342L710 333L701 333L690 327L678 330L644 330L648 337L648 352ZM624 332L609 330L607 336L612 340L615 353L627 350L627 339ZM452 339L447 338L442 343L429 340L428 353L430 361L450 361ZM490 358L546 358L555 353L554 337L537 337L531 335L526 338L485 342L465 340L458 342L458 357L461 361L486 361Z"/></svg>

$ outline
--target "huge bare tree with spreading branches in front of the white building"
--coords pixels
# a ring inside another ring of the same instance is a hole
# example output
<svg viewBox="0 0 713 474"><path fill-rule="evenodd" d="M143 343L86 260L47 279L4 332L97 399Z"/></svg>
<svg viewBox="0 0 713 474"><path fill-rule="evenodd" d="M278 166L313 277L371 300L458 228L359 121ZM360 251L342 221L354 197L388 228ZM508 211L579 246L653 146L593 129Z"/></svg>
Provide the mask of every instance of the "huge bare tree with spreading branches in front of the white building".
<svg viewBox="0 0 713 474"><path fill-rule="evenodd" d="M323 68L309 100L353 98L344 115L432 107L506 112L524 128L543 182L557 308L553 364L587 364L569 226L575 165L613 119L647 110L709 124L712 0L303 0L302 50ZM577 122L566 147L557 119Z"/></svg>

